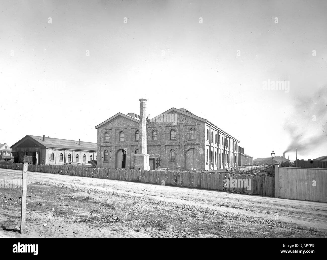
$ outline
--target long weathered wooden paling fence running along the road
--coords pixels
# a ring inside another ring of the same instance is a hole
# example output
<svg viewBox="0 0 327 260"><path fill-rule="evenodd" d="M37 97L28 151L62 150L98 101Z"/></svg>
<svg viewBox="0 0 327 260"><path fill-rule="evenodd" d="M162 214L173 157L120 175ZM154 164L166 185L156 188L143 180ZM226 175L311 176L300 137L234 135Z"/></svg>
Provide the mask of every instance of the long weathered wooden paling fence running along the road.
<svg viewBox="0 0 327 260"><path fill-rule="evenodd" d="M0 168L23 170L23 164L0 162ZM191 171L137 171L132 169L103 169L58 165L28 165L28 171L119 181L135 181L219 191L245 191L265 196L275 195L275 181L274 177L271 176L252 176L250 174L238 173L210 173ZM243 182L241 180L243 180ZM225 186L227 182L229 183L228 187ZM242 187L240 187L240 185L233 187L233 185L230 185L233 182L242 183L243 185ZM249 185L246 187L245 183L250 184L250 190L247 188Z"/></svg>

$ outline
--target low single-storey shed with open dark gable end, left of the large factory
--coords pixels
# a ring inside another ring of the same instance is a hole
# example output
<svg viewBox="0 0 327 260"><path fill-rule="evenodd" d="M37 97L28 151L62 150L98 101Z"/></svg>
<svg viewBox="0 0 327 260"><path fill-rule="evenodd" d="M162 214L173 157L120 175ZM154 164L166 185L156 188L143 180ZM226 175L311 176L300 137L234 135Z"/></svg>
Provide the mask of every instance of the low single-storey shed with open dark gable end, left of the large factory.
<svg viewBox="0 0 327 260"><path fill-rule="evenodd" d="M15 162L25 155L33 157L33 164L82 164L96 160L96 143L52 137L30 136L20 139L11 147Z"/></svg>

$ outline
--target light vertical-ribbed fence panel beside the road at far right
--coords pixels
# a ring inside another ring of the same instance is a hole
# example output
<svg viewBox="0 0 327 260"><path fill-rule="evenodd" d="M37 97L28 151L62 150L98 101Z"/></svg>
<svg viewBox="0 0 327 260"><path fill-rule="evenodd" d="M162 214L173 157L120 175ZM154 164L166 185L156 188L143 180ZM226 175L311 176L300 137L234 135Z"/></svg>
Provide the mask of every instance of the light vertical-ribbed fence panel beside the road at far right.
<svg viewBox="0 0 327 260"><path fill-rule="evenodd" d="M327 169L277 168L276 197L327 202Z"/></svg>

